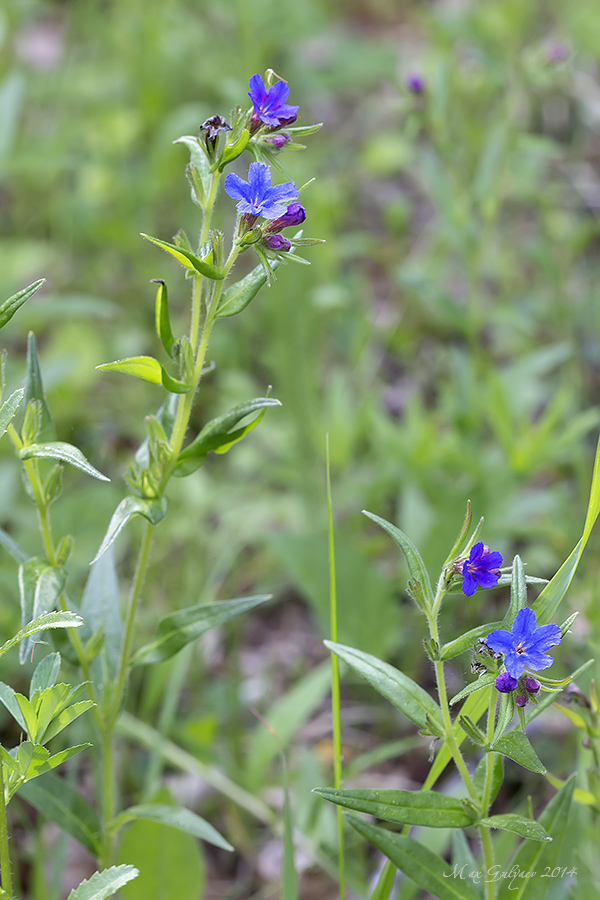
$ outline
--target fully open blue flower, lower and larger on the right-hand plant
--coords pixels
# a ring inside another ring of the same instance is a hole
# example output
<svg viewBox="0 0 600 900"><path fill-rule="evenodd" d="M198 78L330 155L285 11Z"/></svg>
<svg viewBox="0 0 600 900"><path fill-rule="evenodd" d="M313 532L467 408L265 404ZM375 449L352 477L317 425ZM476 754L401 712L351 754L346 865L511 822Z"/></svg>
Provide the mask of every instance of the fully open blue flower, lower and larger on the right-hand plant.
<svg viewBox="0 0 600 900"><path fill-rule="evenodd" d="M505 654L504 666L511 678L520 678L525 666L539 672L554 662L551 656L546 656L546 651L560 644L561 630L558 625L536 626L534 611L525 607L515 616L512 631L492 631L485 639L491 650Z"/></svg>

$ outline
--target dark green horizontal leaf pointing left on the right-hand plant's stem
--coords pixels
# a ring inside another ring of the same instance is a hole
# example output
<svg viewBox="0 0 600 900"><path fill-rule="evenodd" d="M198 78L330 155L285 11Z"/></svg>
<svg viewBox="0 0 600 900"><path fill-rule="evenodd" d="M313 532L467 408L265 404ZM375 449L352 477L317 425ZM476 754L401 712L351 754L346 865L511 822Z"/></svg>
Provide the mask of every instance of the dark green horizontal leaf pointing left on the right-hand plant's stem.
<svg viewBox="0 0 600 900"><path fill-rule="evenodd" d="M460 800L437 791L339 791L334 788L314 788L314 793L345 809L368 813L386 822L398 822L401 825L466 828L474 821Z"/></svg>

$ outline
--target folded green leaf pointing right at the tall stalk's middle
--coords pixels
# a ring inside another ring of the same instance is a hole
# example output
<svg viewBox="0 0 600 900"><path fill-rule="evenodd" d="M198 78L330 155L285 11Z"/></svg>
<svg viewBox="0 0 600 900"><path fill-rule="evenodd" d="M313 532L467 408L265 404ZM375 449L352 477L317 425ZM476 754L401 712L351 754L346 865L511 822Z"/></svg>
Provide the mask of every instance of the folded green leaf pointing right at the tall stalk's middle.
<svg viewBox="0 0 600 900"><path fill-rule="evenodd" d="M211 450L214 453L226 453L249 431L256 428L269 406L281 406L281 402L272 397L255 397L254 400L239 403L225 415L212 419L204 426L198 437L179 454L175 475L184 477L195 472L204 464ZM257 411L259 415L249 425L232 430L243 418Z"/></svg>

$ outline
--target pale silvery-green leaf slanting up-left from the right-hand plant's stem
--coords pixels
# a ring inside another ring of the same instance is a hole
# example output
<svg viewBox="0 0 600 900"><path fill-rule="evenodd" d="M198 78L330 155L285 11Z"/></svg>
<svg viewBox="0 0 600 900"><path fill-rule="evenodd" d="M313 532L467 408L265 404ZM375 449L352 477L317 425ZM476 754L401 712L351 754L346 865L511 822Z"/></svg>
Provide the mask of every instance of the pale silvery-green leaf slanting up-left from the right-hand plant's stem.
<svg viewBox="0 0 600 900"><path fill-rule="evenodd" d="M440 728L444 727L442 713L435 700L404 672L353 647L334 644L333 641L324 641L324 644L419 728L427 728L428 715Z"/></svg>

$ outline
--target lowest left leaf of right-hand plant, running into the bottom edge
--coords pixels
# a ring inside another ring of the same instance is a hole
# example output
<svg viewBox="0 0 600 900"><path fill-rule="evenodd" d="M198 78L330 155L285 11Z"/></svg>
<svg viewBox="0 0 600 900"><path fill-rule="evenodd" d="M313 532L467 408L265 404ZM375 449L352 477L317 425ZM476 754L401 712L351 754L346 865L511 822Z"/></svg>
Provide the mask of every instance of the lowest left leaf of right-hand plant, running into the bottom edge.
<svg viewBox="0 0 600 900"><path fill-rule="evenodd" d="M357 816L348 816L355 831L370 841L396 868L438 900L479 900L472 885L456 877L449 863L424 844L402 834L371 825Z"/></svg>

